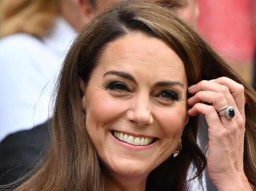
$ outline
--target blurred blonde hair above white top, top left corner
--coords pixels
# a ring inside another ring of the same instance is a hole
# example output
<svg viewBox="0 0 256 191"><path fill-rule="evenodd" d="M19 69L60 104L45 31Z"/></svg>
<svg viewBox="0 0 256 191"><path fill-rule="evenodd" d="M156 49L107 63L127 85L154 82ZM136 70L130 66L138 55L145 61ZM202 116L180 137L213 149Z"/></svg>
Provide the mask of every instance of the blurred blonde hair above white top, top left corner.
<svg viewBox="0 0 256 191"><path fill-rule="evenodd" d="M53 27L58 0L1 0L0 38L28 33L41 38Z"/></svg>

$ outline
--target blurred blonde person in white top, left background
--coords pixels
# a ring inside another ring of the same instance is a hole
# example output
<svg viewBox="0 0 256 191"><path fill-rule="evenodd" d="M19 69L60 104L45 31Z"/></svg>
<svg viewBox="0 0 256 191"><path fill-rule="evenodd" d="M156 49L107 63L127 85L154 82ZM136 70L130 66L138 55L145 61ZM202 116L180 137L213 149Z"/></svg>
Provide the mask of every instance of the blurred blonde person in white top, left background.
<svg viewBox="0 0 256 191"><path fill-rule="evenodd" d="M85 1L86 2L86 1ZM47 120L50 94L76 30L87 15L78 0L0 1L0 141Z"/></svg>

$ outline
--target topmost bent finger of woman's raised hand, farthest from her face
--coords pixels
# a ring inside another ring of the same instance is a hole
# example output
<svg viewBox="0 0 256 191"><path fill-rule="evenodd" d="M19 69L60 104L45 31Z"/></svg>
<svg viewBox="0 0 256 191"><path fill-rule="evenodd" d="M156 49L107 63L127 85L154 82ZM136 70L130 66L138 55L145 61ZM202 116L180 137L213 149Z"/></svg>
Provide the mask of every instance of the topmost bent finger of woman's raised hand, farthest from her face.
<svg viewBox="0 0 256 191"><path fill-rule="evenodd" d="M236 106L239 110L239 112L245 116L245 88L243 85L238 84L234 80L227 78L227 77L221 77L217 78L215 80L215 83L225 85L228 87L231 95L233 96Z"/></svg>

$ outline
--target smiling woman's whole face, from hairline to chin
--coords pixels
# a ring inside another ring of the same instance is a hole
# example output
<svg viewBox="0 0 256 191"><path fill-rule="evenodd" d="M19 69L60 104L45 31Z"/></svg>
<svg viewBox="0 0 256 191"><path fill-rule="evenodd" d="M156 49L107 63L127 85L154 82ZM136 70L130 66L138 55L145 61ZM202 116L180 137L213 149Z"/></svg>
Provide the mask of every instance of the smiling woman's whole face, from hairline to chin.
<svg viewBox="0 0 256 191"><path fill-rule="evenodd" d="M100 160L115 176L147 177L178 147L187 115L187 77L158 38L134 33L109 43L82 107Z"/></svg>

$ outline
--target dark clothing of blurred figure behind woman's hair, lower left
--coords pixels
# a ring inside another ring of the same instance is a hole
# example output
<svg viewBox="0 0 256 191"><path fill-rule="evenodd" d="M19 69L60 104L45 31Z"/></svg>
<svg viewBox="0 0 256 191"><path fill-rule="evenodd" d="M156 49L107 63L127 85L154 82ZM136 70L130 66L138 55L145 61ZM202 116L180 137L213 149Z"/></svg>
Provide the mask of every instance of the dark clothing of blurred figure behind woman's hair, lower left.
<svg viewBox="0 0 256 191"><path fill-rule="evenodd" d="M45 122L33 129L8 135L0 143L0 185L11 183L28 174L35 166L40 166L51 141L49 127L50 122Z"/></svg>

